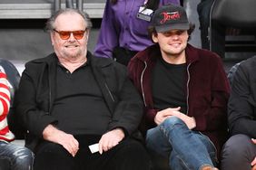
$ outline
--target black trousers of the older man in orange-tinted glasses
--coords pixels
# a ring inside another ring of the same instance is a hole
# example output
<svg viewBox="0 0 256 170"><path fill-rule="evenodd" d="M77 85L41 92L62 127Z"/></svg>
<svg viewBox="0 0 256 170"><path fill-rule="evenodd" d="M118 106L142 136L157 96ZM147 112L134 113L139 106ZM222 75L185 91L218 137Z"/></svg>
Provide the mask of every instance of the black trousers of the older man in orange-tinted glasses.
<svg viewBox="0 0 256 170"><path fill-rule="evenodd" d="M44 141L35 153L34 170L149 170L150 158L143 145L131 138L124 139L111 150L92 154L89 145L100 136L79 136L79 151L71 156L63 146Z"/></svg>

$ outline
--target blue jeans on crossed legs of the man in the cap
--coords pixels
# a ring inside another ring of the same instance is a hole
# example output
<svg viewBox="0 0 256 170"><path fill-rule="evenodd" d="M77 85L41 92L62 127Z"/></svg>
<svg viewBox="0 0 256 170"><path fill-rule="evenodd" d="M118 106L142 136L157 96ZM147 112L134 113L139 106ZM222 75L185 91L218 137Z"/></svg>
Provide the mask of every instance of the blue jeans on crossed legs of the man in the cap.
<svg viewBox="0 0 256 170"><path fill-rule="evenodd" d="M151 155L169 159L172 170L200 170L204 165L217 165L212 141L190 130L180 118L166 118L158 127L149 129L146 146Z"/></svg>

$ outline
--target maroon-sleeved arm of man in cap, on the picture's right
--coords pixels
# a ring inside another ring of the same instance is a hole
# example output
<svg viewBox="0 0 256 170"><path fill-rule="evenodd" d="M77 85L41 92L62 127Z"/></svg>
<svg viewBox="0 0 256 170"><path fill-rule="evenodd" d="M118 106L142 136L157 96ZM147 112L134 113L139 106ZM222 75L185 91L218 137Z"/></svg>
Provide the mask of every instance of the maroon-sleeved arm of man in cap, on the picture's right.
<svg viewBox="0 0 256 170"><path fill-rule="evenodd" d="M230 85L223 69L221 58L212 58L209 65L211 86L208 92L209 101L205 109L198 110L193 117L196 130L215 131L227 128L227 103L230 95Z"/></svg>

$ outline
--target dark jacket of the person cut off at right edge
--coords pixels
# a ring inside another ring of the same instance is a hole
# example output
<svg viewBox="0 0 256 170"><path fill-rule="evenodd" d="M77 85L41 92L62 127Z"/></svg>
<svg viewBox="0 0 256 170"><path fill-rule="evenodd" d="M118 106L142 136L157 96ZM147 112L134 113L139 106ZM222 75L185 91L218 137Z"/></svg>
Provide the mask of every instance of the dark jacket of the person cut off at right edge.
<svg viewBox="0 0 256 170"><path fill-rule="evenodd" d="M256 56L242 61L231 83L228 105L231 135L256 137Z"/></svg>

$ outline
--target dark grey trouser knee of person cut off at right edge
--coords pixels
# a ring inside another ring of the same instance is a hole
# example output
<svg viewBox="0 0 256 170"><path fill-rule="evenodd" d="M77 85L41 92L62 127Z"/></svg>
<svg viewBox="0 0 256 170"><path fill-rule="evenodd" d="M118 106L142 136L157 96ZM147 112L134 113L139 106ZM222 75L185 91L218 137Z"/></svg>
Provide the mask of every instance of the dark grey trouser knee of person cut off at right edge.
<svg viewBox="0 0 256 170"><path fill-rule="evenodd" d="M222 170L251 170L256 156L256 145L246 135L232 136L222 150Z"/></svg>

